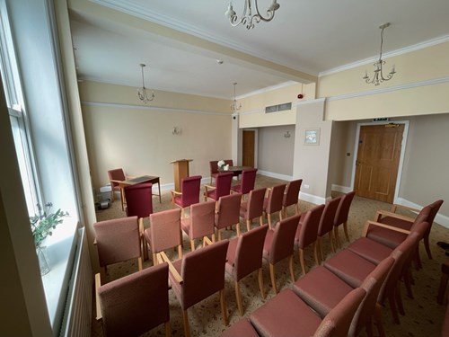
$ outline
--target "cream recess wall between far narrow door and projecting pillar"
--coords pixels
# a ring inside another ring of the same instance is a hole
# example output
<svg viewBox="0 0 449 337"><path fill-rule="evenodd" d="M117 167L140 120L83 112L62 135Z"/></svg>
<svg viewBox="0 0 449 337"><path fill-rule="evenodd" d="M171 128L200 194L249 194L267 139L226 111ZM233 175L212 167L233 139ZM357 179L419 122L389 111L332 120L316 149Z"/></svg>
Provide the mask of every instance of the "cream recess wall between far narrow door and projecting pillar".
<svg viewBox="0 0 449 337"><path fill-rule="evenodd" d="M288 131L290 137L284 137ZM258 168L260 171L293 175L295 125L259 129Z"/></svg>

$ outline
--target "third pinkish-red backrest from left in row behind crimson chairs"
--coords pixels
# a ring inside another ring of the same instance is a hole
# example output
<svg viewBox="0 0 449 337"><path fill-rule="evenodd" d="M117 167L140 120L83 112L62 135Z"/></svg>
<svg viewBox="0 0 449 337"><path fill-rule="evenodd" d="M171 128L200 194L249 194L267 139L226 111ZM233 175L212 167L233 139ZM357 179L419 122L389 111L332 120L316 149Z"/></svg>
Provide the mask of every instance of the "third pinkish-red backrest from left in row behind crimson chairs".
<svg viewBox="0 0 449 337"><path fill-rule="evenodd" d="M215 233L216 201L205 201L190 205L189 237L212 235ZM185 220L184 220L185 221Z"/></svg>

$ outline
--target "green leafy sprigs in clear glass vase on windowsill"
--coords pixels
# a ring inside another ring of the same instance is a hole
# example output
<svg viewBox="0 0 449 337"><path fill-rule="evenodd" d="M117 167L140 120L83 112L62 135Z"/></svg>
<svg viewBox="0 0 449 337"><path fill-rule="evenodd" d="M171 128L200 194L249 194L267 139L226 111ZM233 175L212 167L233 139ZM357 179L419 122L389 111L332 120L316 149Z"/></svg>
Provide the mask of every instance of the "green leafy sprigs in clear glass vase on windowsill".
<svg viewBox="0 0 449 337"><path fill-rule="evenodd" d="M67 217L68 212L59 208L55 213L51 213L51 208L53 207L51 202L47 202L44 207L37 204L37 207L38 214L30 217L30 224L34 244L36 245L36 253L39 258L40 275L45 275L50 269L45 254L45 246L42 243L48 235L53 234L52 231L63 222L63 217Z"/></svg>

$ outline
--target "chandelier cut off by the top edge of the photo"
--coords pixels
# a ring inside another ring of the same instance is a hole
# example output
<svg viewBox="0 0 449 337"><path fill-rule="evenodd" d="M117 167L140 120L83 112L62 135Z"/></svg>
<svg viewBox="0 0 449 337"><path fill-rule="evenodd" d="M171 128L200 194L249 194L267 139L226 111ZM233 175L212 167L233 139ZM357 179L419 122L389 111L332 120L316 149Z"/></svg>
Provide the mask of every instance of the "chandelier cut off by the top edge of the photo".
<svg viewBox="0 0 449 337"><path fill-rule="evenodd" d="M254 1L254 4L252 2ZM255 23L259 23L260 21L269 22L271 21L277 9L279 9L279 4L277 4L277 0L273 0L273 3L267 9L267 17L264 17L259 12L259 6L257 4L258 0L245 0L245 5L243 8L242 15L240 19L237 17L237 13L233 11L233 2L229 3L227 11L225 12L226 17L229 19L229 22L233 25L233 27L238 26L242 23L246 27L246 29L254 28ZM252 9L254 8L255 13L252 13Z"/></svg>

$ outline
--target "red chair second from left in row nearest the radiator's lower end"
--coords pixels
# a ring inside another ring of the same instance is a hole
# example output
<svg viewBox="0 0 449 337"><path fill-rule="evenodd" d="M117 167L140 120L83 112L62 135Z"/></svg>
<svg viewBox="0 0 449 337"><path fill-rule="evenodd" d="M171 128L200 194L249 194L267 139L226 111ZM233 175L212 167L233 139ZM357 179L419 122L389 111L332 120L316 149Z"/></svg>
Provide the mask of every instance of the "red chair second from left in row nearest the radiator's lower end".
<svg viewBox="0 0 449 337"><path fill-rule="evenodd" d="M220 292L220 302L225 325L227 314L225 304L225 262L229 242L219 241L195 252L184 255L182 260L169 262L169 279L172 290L180 301L184 323L184 335L189 337L189 316L187 310L199 301ZM166 255L161 253L164 261Z"/></svg>

